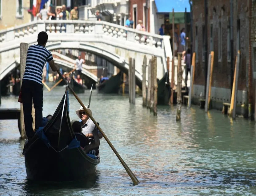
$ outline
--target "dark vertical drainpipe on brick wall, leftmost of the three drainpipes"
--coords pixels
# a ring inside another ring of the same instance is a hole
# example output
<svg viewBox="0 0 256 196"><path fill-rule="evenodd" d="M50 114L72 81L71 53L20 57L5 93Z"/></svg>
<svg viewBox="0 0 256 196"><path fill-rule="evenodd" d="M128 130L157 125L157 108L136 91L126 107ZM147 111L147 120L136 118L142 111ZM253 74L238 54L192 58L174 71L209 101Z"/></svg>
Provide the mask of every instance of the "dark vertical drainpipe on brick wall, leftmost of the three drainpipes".
<svg viewBox="0 0 256 196"><path fill-rule="evenodd" d="M208 42L208 39L207 39L207 19L208 19L208 17L207 17L207 13L208 13L208 11L207 11L207 0L205 0L204 1L204 26L205 26L205 45L204 45L204 47L205 47L205 56L204 56L204 70L205 70L205 72L204 72L204 76L205 76L205 84L204 84L204 95L205 95L205 97L206 97L206 85L207 85L207 69L208 69L208 63L207 63L207 42Z"/></svg>

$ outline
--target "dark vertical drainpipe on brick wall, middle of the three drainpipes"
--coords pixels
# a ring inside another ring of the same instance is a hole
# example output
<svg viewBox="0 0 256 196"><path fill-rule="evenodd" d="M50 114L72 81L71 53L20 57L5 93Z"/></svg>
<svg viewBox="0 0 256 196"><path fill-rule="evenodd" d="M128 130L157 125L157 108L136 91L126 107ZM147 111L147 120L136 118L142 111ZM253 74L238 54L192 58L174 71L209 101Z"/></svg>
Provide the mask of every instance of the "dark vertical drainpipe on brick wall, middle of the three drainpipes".
<svg viewBox="0 0 256 196"><path fill-rule="evenodd" d="M233 80L234 80L233 58L234 58L233 0L230 0L230 98L231 98L231 95L232 95Z"/></svg>

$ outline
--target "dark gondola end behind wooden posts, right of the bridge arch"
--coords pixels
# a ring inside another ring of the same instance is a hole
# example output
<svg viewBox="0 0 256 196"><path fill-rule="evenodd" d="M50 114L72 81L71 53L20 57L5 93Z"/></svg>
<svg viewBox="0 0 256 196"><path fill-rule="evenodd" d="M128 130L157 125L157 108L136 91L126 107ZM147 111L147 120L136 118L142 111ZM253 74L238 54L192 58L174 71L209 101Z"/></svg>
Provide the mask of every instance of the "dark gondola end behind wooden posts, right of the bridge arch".
<svg viewBox="0 0 256 196"><path fill-rule="evenodd" d="M171 87L169 81L169 70L164 74L161 80L157 82L157 104L168 105L171 96Z"/></svg>

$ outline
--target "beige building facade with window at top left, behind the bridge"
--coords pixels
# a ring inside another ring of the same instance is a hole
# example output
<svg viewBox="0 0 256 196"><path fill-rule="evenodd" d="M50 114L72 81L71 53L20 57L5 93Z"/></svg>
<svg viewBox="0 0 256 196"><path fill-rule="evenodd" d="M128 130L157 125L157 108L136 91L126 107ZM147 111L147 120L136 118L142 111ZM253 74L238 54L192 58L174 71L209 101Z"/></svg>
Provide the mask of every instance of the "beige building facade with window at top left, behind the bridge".
<svg viewBox="0 0 256 196"><path fill-rule="evenodd" d="M30 1L25 0L1 0L0 1L0 30L22 25L31 21Z"/></svg>

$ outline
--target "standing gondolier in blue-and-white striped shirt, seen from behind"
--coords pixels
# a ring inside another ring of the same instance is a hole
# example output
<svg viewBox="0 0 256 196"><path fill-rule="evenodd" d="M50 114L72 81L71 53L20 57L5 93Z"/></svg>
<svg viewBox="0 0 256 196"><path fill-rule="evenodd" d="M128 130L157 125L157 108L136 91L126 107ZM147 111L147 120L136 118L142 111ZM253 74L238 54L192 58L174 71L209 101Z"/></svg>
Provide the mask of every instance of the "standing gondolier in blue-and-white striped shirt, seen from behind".
<svg viewBox="0 0 256 196"><path fill-rule="evenodd" d="M28 48L25 72L22 78L22 87L20 96L23 104L23 114L25 130L28 139L34 136L32 128L33 118L32 100L35 108L35 129L37 130L42 126L42 111L43 111L43 85L42 73L44 65L49 62L53 71L59 70L58 66L54 64L54 60L50 51L45 48L48 41L48 35L42 31L38 33L38 44L34 44Z"/></svg>

